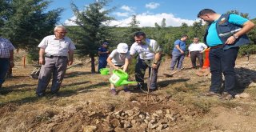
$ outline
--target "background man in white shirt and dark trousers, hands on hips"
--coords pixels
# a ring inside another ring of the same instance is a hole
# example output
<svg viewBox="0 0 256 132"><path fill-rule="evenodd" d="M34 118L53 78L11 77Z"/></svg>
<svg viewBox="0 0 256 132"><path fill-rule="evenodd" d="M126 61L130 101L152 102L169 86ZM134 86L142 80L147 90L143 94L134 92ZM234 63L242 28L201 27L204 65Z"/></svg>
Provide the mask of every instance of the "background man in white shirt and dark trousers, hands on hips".
<svg viewBox="0 0 256 132"><path fill-rule="evenodd" d="M198 58L200 68L203 66L203 58L202 53L207 49L206 44L199 42L199 38L194 37L193 43L190 44L188 50L189 50L189 57L192 62L193 68L197 68L196 66L196 59Z"/></svg>

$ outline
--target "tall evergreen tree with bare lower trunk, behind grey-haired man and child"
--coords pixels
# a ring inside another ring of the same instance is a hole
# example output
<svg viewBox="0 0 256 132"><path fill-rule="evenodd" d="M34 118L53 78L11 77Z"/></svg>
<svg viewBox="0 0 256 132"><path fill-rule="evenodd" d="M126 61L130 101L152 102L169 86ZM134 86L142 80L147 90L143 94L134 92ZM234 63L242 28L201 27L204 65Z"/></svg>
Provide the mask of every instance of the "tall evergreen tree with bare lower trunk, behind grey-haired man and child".
<svg viewBox="0 0 256 132"><path fill-rule="evenodd" d="M77 34L75 39L77 39L78 54L80 56L89 55L92 73L95 72L94 57L98 53L98 47L110 36L110 28L107 23L114 19L108 16L114 8L110 10L103 9L107 2L107 0L95 0L95 2L86 6L85 10L78 10L78 7L71 3L76 16L74 22L82 29L72 31Z"/></svg>

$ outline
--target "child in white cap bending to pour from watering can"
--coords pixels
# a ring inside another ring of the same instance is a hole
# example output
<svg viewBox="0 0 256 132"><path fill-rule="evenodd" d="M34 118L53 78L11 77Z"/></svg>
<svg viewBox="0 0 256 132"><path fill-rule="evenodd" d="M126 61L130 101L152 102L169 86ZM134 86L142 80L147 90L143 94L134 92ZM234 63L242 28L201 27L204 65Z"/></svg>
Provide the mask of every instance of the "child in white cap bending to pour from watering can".
<svg viewBox="0 0 256 132"><path fill-rule="evenodd" d="M129 65L130 52L128 51L128 45L126 43L119 43L118 48L113 50L110 56L106 59L106 62L113 66L115 70L122 68L123 71L127 70ZM127 88L127 85L124 86L125 92L130 92ZM110 84L111 94L117 95L117 91L114 88L114 85Z"/></svg>

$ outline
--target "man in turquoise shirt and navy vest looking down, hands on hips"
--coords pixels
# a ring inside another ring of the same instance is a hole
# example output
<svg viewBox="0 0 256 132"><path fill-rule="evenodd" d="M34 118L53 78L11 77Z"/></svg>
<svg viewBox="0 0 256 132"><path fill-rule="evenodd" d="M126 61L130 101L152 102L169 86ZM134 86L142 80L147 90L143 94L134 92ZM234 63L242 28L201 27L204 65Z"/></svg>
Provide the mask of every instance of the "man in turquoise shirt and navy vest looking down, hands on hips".
<svg viewBox="0 0 256 132"><path fill-rule="evenodd" d="M205 41L210 46L210 73L212 75L210 90L206 95L219 96L221 94L220 88L222 86L223 73L225 76L225 88L221 98L234 98L235 60L239 46L250 42L246 37L246 33L254 28L254 23L237 14L217 14L210 9L201 10L198 13L198 18L202 18L209 23ZM227 35L222 36L221 34Z"/></svg>

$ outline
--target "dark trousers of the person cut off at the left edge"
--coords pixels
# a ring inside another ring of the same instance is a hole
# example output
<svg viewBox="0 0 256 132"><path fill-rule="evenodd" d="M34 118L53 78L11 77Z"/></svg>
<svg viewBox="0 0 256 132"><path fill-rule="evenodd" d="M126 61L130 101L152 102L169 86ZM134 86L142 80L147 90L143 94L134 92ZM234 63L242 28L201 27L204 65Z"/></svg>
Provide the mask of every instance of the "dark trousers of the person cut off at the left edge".
<svg viewBox="0 0 256 132"><path fill-rule="evenodd" d="M9 58L0 58L0 87L2 83L5 82L6 73L9 70L10 59Z"/></svg>

